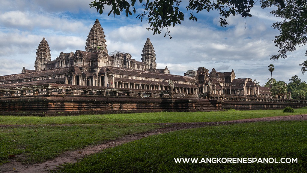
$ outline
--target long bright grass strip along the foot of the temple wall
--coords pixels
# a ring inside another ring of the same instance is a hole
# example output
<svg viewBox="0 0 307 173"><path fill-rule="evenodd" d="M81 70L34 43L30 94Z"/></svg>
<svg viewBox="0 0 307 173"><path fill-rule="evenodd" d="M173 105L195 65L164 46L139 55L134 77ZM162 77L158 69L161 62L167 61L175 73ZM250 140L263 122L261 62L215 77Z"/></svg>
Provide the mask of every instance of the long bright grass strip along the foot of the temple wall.
<svg viewBox="0 0 307 173"><path fill-rule="evenodd" d="M154 112L138 114L80 115L80 116L0 116L0 124L102 124L102 123L175 123L212 122L271 116L307 114L307 107L294 113L283 110L216 111L216 112Z"/></svg>

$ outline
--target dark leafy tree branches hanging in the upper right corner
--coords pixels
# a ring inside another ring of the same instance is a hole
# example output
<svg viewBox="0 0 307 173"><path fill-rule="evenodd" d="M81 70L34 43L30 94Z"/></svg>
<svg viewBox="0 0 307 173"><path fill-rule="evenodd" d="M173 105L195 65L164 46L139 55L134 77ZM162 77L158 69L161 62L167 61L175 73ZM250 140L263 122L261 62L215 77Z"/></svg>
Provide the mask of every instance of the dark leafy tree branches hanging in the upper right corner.
<svg viewBox="0 0 307 173"><path fill-rule="evenodd" d="M297 45L307 44L307 2L305 0L286 0L284 4L276 0L261 0L262 8L276 6L271 14L282 18L281 22L275 22L272 27L280 31L275 37L274 43L279 47L279 53L271 55L271 59L287 58L288 52L296 50ZM305 53L307 56L307 51ZM307 70L307 61L300 64L304 74Z"/></svg>

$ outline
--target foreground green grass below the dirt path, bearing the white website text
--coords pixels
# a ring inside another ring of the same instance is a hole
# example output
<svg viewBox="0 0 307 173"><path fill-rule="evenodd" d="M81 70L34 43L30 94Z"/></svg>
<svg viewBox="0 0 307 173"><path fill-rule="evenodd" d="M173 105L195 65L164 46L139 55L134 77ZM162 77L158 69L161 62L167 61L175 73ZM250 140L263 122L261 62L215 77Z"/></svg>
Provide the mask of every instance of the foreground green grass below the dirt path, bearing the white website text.
<svg viewBox="0 0 307 173"><path fill-rule="evenodd" d="M298 163L175 163L177 157L297 158ZM181 130L106 149L57 172L306 172L307 121Z"/></svg>

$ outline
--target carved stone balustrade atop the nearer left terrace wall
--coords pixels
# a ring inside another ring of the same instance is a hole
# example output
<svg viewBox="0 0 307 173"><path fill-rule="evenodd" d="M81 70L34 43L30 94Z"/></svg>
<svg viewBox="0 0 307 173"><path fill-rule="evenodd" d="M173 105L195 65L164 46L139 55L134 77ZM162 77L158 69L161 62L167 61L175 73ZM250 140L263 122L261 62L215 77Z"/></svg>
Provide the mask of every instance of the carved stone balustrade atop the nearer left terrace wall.
<svg viewBox="0 0 307 173"><path fill-rule="evenodd" d="M150 97L150 98L198 98L197 94L169 93L168 91L142 90L131 88L111 88L101 86L77 86L64 84L37 84L0 88L0 99L10 97L30 96L64 96L64 95L92 95L111 97Z"/></svg>

